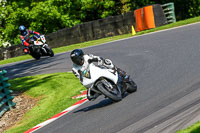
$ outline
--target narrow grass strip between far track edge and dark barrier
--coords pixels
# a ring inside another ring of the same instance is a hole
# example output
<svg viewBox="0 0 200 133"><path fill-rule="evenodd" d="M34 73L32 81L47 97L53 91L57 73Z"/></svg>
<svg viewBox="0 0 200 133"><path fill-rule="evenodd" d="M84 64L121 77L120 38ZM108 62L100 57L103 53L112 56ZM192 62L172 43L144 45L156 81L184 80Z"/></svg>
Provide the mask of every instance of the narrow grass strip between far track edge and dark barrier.
<svg viewBox="0 0 200 133"><path fill-rule="evenodd" d="M154 29L137 32L137 34L135 36L150 33L150 32L155 32L155 31L159 31L159 30L169 29L169 28L173 28L173 27L177 27L177 26L182 26L182 25L186 25L186 24L191 24L191 23L195 23L195 22L199 22L199 21L200 21L200 17L195 17L195 18L179 21L179 22L176 22L176 23L164 25L164 26L161 26L161 27L157 27L157 28L154 28ZM62 52L66 52L66 51L76 49L76 48L84 48L84 47L88 47L88 46L94 46L94 45L98 45L98 44L102 44L102 43L106 43L106 42L111 42L111 41L115 41L115 40L119 40L119 39L128 38L128 37L131 37L131 36L132 36L131 34L124 34L124 35L118 35L118 36L113 36L113 37L107 37L107 38L103 38L103 39L99 39L99 40L93 40L93 41L73 44L73 45L69 45L69 46L54 48L53 51L55 53L62 53ZM0 65L13 63L13 62L17 62L17 61L22 61L22 60L27 60L27 59L32 59L32 57L29 56L29 55L14 57L14 58L10 58L10 59L7 59L7 60L0 61Z"/></svg>

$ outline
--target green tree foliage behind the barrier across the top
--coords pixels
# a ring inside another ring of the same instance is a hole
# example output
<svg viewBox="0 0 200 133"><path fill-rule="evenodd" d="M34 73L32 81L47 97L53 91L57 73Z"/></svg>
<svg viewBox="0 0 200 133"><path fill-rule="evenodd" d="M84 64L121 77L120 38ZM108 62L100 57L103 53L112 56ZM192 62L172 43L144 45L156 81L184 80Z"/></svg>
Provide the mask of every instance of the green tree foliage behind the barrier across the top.
<svg viewBox="0 0 200 133"><path fill-rule="evenodd" d="M0 0L0 46L19 44L18 27L42 34L171 0ZM174 0L177 20L200 15L200 0Z"/></svg>

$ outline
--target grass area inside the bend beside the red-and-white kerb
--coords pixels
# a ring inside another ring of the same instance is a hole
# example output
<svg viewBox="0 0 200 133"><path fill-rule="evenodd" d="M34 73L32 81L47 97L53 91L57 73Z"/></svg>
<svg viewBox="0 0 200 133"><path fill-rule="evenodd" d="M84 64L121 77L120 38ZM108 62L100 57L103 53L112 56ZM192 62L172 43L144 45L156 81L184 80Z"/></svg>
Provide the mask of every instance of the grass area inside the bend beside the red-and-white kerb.
<svg viewBox="0 0 200 133"><path fill-rule="evenodd" d="M73 105L84 87L72 73L55 73L28 76L9 80L11 89L39 98L37 105L6 133L22 133ZM80 100L80 99L79 99Z"/></svg>

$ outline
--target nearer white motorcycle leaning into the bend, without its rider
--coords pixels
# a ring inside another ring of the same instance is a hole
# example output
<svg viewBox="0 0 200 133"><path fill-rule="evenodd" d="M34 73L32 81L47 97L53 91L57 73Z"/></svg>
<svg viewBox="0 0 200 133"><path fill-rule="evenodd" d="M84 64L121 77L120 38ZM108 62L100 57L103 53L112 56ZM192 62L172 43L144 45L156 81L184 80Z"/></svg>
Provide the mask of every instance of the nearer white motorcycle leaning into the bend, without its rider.
<svg viewBox="0 0 200 133"><path fill-rule="evenodd" d="M81 83L88 89L99 95L103 94L112 101L117 102L122 99L125 92L132 93L137 90L135 82L128 77L118 85L119 73L117 69L108 69L104 66L96 66L93 63L81 72Z"/></svg>

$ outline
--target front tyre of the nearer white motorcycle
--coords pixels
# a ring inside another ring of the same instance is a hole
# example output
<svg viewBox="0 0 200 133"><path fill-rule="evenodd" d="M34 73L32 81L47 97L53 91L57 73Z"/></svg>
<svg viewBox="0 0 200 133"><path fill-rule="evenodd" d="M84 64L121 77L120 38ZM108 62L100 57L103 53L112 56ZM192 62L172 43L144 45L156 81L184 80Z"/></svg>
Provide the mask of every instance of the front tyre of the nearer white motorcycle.
<svg viewBox="0 0 200 133"><path fill-rule="evenodd" d="M102 82L97 84L97 88L102 94L110 98L112 101L118 102L122 100L121 91L119 91L118 88L108 88Z"/></svg>

